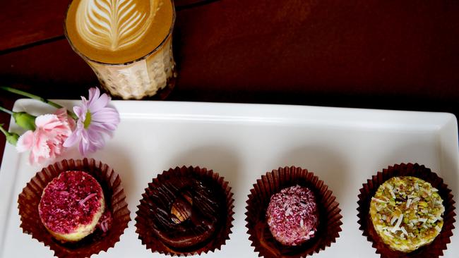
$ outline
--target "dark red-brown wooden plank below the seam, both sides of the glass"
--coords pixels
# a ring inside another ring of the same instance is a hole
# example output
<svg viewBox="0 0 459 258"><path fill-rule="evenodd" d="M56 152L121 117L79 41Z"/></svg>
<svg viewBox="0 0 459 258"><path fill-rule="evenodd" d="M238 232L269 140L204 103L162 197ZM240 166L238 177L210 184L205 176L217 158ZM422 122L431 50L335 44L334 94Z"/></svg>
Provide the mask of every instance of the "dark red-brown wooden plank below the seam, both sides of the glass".
<svg viewBox="0 0 459 258"><path fill-rule="evenodd" d="M459 1L215 1L177 13L178 87L459 99L458 15ZM64 95L97 83L65 39L0 56L0 76Z"/></svg>

